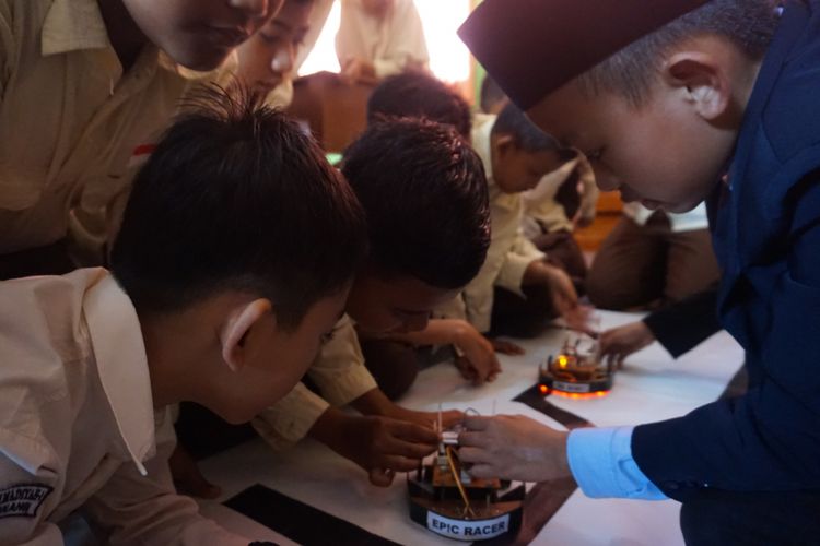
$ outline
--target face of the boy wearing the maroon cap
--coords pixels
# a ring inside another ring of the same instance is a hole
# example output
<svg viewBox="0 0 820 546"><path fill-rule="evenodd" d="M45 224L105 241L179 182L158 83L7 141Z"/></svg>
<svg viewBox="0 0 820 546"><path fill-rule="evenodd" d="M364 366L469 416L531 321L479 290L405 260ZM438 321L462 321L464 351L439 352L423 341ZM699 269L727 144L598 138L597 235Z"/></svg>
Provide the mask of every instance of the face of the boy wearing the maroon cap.
<svg viewBox="0 0 820 546"><path fill-rule="evenodd" d="M686 212L723 176L736 128L698 115L691 92L658 83L635 108L614 94L584 96L570 82L527 111L542 130L584 152L598 186L624 201Z"/></svg>

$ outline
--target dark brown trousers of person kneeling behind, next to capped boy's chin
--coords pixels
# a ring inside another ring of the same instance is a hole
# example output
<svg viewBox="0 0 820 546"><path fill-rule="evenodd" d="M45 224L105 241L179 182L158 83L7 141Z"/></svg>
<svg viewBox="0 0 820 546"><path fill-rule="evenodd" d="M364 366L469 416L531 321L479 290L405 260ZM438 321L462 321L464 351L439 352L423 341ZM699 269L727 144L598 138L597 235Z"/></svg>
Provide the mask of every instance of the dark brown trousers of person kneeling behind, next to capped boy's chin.
<svg viewBox="0 0 820 546"><path fill-rule="evenodd" d="M600 309L655 308L703 292L719 274L708 229L673 233L663 215L644 226L623 217L595 256L586 289Z"/></svg>

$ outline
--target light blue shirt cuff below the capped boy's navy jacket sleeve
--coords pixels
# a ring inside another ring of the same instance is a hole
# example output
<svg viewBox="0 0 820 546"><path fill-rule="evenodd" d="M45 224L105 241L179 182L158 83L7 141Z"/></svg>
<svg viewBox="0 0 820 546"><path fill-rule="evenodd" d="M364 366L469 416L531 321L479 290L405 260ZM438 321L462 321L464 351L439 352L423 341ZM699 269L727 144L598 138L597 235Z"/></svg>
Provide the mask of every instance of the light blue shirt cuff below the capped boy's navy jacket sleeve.
<svg viewBox="0 0 820 546"><path fill-rule="evenodd" d="M570 432L566 458L587 497L664 500L668 497L632 459L633 427L578 428Z"/></svg>

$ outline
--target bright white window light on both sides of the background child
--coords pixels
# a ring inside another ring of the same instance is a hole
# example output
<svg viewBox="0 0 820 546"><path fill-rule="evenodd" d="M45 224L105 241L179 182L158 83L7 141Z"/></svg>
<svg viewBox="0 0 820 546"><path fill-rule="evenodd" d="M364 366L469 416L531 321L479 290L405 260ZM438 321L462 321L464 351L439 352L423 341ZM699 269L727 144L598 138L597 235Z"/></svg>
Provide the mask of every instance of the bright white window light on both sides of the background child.
<svg viewBox="0 0 820 546"><path fill-rule="evenodd" d="M430 51L430 69L445 82L465 82L470 78L470 54L456 31L470 14L469 0L415 0L424 37ZM339 72L336 58L336 33L339 29L341 4L333 2L316 47L300 70L301 75L327 70Z"/></svg>

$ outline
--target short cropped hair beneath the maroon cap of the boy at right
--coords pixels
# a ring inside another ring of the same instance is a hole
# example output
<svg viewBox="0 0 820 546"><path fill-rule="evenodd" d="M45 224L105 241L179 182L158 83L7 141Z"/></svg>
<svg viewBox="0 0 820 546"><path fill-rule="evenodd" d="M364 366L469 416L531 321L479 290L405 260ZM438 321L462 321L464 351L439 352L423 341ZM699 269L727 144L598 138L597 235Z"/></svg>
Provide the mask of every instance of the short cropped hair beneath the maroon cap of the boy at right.
<svg viewBox="0 0 820 546"><path fill-rule="evenodd" d="M578 78L583 92L613 92L637 107L644 104L663 55L699 35L716 35L752 60L763 58L780 24L778 0L711 0L626 46Z"/></svg>

